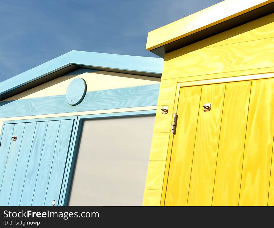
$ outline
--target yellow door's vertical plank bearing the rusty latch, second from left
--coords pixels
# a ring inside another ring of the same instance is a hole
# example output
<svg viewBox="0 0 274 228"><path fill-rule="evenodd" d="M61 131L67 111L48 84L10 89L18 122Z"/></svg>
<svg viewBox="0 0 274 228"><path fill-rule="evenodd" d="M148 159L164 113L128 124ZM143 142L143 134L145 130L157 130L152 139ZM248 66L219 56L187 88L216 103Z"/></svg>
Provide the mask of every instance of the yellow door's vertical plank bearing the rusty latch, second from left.
<svg viewBox="0 0 274 228"><path fill-rule="evenodd" d="M212 204L225 84L202 87L187 205ZM211 103L209 112L203 105Z"/></svg>

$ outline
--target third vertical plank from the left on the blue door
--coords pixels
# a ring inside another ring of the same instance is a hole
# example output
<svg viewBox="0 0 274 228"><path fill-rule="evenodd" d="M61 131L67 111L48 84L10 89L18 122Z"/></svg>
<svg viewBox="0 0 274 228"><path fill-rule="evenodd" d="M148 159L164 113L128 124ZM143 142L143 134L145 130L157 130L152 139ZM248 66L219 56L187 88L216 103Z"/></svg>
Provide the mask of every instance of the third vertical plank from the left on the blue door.
<svg viewBox="0 0 274 228"><path fill-rule="evenodd" d="M35 122L26 123L25 129L24 129L23 139L21 142L21 148L19 151L16 171L15 171L14 180L12 184L11 195L8 203L9 206L20 205L21 194L24 186L24 180L26 176L33 136L35 132L35 126L36 126Z"/></svg>

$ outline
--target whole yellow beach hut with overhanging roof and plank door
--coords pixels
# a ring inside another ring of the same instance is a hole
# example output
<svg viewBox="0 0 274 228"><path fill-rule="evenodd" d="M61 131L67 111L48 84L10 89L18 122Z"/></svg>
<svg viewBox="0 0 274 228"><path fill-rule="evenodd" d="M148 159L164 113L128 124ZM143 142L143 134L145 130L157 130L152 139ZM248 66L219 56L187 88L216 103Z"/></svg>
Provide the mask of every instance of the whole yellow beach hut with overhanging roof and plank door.
<svg viewBox="0 0 274 228"><path fill-rule="evenodd" d="M143 205L273 206L274 1L220 2L146 49L164 64Z"/></svg>

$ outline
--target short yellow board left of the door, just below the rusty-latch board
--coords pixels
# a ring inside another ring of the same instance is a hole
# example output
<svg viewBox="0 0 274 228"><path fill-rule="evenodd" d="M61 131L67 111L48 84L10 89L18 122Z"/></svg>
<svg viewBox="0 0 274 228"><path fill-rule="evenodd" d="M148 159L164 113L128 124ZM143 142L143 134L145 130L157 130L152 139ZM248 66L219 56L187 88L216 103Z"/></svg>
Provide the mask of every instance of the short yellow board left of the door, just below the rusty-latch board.
<svg viewBox="0 0 274 228"><path fill-rule="evenodd" d="M168 153L169 133L153 133L150 161L166 161Z"/></svg>

